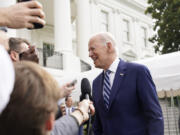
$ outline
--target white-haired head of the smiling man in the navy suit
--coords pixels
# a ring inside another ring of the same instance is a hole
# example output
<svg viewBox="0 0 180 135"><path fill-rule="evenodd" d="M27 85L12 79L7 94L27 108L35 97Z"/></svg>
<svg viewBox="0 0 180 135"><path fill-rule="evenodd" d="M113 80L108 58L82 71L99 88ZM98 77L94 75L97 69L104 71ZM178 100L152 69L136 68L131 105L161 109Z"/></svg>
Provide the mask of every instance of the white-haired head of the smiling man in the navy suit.
<svg viewBox="0 0 180 135"><path fill-rule="evenodd" d="M93 35L88 43L89 57L94 61L97 68L108 69L117 57L116 42L114 37L108 33L97 33Z"/></svg>

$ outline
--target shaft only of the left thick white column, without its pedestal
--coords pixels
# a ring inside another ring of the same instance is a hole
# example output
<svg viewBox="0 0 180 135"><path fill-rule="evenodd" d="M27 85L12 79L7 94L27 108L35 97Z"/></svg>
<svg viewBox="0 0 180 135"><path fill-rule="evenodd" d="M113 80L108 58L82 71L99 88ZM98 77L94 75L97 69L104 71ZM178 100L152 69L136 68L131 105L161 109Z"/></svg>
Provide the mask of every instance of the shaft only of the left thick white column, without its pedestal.
<svg viewBox="0 0 180 135"><path fill-rule="evenodd" d="M72 52L70 0L54 0L55 50Z"/></svg>

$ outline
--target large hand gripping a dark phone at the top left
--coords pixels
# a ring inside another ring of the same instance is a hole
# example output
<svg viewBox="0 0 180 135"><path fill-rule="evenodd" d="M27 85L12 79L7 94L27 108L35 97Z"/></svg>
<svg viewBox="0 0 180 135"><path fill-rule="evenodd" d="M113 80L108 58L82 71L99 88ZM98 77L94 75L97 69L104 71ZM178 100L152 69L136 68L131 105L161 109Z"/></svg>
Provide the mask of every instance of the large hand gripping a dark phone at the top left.
<svg viewBox="0 0 180 135"><path fill-rule="evenodd" d="M21 2L0 8L0 25L9 28L34 28L33 23L45 25L45 14L38 1Z"/></svg>

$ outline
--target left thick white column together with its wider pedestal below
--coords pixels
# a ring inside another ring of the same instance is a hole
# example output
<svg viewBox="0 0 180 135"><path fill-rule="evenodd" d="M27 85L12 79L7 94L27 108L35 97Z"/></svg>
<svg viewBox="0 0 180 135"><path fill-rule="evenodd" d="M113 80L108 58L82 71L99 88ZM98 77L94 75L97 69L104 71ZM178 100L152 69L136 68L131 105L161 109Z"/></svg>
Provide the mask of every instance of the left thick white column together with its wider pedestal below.
<svg viewBox="0 0 180 135"><path fill-rule="evenodd" d="M80 61L72 53L71 28L70 0L54 0L55 51L63 54L64 71L80 72Z"/></svg>

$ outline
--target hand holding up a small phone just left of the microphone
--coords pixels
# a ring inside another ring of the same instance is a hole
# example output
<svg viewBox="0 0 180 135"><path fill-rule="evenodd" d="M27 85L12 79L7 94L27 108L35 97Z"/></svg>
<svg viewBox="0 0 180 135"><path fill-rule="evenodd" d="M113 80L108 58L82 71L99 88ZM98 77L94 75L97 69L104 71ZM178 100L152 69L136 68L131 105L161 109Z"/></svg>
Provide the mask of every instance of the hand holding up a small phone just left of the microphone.
<svg viewBox="0 0 180 135"><path fill-rule="evenodd" d="M75 86L70 86L70 83L66 83L65 85L62 85L60 87L60 93L61 93L61 98L67 97L68 95L70 95L72 93L72 91L75 89Z"/></svg>

